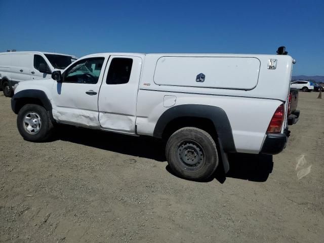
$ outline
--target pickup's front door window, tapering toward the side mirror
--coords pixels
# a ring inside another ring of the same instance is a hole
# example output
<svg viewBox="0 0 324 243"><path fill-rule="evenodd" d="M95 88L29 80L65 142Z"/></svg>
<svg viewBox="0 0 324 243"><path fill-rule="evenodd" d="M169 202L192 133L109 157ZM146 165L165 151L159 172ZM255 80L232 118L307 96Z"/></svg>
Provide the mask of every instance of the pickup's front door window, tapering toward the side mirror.
<svg viewBox="0 0 324 243"><path fill-rule="evenodd" d="M66 70L63 82L97 84L104 60L104 57L94 57L75 62Z"/></svg>

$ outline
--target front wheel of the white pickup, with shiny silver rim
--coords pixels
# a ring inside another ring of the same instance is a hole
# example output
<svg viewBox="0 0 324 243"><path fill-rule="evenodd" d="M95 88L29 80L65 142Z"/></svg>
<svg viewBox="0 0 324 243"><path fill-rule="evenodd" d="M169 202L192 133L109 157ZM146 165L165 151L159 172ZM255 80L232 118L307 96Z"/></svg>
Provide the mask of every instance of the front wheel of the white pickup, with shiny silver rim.
<svg viewBox="0 0 324 243"><path fill-rule="evenodd" d="M26 123L25 120L29 120L29 123ZM49 113L43 106L35 104L27 104L20 109L17 116L17 127L20 135L31 142L46 141L53 132ZM35 132L36 130L38 131Z"/></svg>

